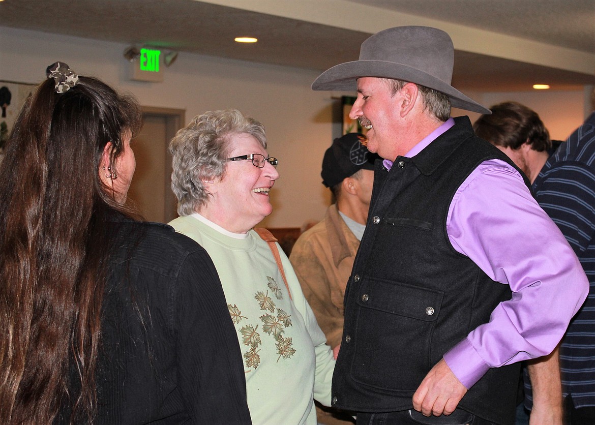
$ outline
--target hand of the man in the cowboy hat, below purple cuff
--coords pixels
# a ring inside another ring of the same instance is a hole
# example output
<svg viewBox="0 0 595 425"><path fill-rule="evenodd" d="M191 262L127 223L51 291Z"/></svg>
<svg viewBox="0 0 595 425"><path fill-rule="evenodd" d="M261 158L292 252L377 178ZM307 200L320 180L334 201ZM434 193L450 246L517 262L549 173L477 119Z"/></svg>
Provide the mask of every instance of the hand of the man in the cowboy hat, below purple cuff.
<svg viewBox="0 0 595 425"><path fill-rule="evenodd" d="M449 415L455 411L467 389L444 359L428 372L413 395L413 407L426 416Z"/></svg>

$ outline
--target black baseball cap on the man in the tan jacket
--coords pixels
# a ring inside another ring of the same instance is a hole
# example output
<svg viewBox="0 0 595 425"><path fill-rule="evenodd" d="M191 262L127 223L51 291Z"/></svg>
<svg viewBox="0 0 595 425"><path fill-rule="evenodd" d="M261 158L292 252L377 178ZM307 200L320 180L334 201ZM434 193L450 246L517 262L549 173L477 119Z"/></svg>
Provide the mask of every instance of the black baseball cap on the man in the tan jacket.
<svg viewBox="0 0 595 425"><path fill-rule="evenodd" d="M361 169L373 170L374 160L380 157L368 151L362 144L366 141L367 138L361 133L337 137L322 159L322 184L333 187Z"/></svg>

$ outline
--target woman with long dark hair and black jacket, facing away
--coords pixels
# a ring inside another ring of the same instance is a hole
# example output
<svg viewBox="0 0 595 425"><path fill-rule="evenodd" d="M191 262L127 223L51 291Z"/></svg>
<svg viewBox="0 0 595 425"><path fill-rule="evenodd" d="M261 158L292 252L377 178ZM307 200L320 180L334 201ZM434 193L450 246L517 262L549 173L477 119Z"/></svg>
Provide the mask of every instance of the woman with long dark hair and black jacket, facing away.
<svg viewBox="0 0 595 425"><path fill-rule="evenodd" d="M211 260L124 206L136 100L47 74L0 164L0 423L249 423Z"/></svg>

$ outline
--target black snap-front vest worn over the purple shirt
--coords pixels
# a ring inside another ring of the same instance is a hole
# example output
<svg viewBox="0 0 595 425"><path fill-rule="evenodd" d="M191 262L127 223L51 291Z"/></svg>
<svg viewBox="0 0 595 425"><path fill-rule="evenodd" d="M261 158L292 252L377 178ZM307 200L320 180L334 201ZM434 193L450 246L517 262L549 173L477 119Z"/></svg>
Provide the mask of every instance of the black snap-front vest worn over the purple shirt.
<svg viewBox="0 0 595 425"><path fill-rule="evenodd" d="M412 408L414 392L444 352L511 298L508 285L455 251L446 234L450 202L466 177L487 159L513 165L475 137L467 117L455 121L414 158L398 157L390 173L377 161L368 223L345 293L335 407ZM518 378L518 364L490 369L459 407L512 424Z"/></svg>

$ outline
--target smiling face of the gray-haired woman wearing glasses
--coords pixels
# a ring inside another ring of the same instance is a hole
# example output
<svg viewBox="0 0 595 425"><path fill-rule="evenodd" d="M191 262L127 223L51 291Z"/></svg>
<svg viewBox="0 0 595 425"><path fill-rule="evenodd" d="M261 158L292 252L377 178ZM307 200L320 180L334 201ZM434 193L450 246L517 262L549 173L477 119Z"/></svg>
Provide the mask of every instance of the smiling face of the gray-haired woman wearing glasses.
<svg viewBox="0 0 595 425"><path fill-rule="evenodd" d="M268 158L262 144L250 134L231 136L229 158L260 153ZM268 161L263 168L253 165L251 159L229 161L223 177L210 186L209 203L224 215L217 220L224 229L246 233L273 212L269 190L279 178L277 170Z"/></svg>

